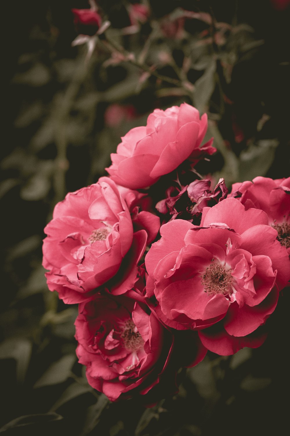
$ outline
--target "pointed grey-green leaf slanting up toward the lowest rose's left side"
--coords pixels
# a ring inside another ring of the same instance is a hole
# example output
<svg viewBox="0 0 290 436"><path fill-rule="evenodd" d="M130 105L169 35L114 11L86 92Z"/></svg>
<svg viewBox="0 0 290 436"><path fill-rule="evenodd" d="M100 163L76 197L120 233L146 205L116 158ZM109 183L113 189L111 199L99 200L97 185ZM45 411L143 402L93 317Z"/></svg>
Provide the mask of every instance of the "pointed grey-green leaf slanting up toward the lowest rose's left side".
<svg viewBox="0 0 290 436"><path fill-rule="evenodd" d="M59 361L53 363L47 371L40 377L34 385L34 388L42 388L43 386L58 385L63 383L70 377L71 368L76 361L76 356L67 354Z"/></svg>

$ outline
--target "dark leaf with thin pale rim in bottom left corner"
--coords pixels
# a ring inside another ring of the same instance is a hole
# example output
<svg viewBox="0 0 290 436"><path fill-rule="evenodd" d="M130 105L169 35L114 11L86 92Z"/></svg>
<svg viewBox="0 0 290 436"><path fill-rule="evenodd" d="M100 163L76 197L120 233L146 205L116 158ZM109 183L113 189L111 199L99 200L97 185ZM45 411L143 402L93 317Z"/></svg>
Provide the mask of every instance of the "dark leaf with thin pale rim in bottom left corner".
<svg viewBox="0 0 290 436"><path fill-rule="evenodd" d="M7 435L50 436L59 428L55 421L63 419L57 413L39 413L36 415L19 416L1 427L0 433ZM57 433L59 434L59 432Z"/></svg>

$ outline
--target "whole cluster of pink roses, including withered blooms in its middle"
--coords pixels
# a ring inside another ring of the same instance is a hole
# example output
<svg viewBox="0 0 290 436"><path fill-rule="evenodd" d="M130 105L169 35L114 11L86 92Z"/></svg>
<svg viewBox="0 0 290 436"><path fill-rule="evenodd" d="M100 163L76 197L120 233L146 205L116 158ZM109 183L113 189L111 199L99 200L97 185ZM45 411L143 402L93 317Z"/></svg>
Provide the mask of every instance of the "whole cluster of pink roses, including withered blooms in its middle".
<svg viewBox="0 0 290 436"><path fill-rule="evenodd" d="M45 228L48 287L79 303L77 356L111 401L153 404L207 350L259 347L290 279L290 178L211 190L193 170L206 131L186 103L155 109Z"/></svg>

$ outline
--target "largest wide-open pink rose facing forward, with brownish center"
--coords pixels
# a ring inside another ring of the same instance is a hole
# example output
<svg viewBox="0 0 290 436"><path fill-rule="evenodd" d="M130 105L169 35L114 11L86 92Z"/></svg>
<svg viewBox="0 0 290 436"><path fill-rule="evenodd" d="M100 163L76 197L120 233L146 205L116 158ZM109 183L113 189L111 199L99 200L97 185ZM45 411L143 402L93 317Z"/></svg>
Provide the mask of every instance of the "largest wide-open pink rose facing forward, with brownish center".
<svg viewBox="0 0 290 436"><path fill-rule="evenodd" d="M266 213L226 198L203 208L200 227L177 219L160 234L145 258L148 303L160 320L199 330L217 354L258 347L265 337L256 330L290 279L287 250Z"/></svg>

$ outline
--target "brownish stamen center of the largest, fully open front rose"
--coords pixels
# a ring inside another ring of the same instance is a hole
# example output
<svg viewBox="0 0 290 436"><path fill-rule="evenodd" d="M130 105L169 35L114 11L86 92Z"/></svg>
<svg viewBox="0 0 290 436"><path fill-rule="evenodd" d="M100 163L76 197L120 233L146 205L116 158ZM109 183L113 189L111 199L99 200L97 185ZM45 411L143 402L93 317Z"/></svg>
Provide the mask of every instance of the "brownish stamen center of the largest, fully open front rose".
<svg viewBox="0 0 290 436"><path fill-rule="evenodd" d="M212 259L210 266L207 267L203 276L201 276L204 292L210 295L229 294L230 286L233 282L233 276L230 272L231 270L227 271L224 266L221 266Z"/></svg>

